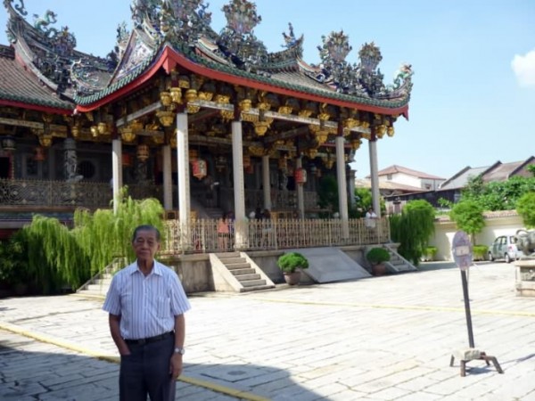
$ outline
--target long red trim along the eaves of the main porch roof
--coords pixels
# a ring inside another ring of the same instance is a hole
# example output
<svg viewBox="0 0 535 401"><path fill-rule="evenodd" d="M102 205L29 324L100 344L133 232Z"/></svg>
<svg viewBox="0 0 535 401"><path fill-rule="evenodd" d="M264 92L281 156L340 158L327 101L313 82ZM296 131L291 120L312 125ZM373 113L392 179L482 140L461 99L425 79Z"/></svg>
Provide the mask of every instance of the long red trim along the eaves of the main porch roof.
<svg viewBox="0 0 535 401"><path fill-rule="evenodd" d="M408 104L403 107L398 107L396 109L387 109L383 107L370 106L367 104L361 104L357 102L347 102L347 101L336 100L336 99L320 96L317 94L308 94L306 92L299 92L299 91L294 91L291 89L281 88L279 86L254 81L249 78L236 77L226 72L211 70L208 67L204 67L191 60L188 60L184 55L177 53L168 45L166 45L163 51L161 52L161 56L159 60L156 61L156 63L153 64L152 68L150 70L147 70L142 76L140 76L139 78L136 78L127 86L123 86L118 91L114 92L113 94L110 94L109 96L104 97L100 101L95 102L91 105L86 105L86 106L78 105L77 109L80 112L87 112L87 111L95 110L96 108L102 106L103 104L107 102L111 102L119 98L123 94L127 94L131 89L134 89L137 86L144 84L147 80L152 78L152 76L161 67L164 70L166 70L166 72L169 74L170 71L173 70L177 65L180 65L181 67L187 70L190 70L196 74L202 75L204 77L218 79L220 81L224 81L229 84L249 86L255 89L259 89L259 90L274 92L276 94L295 96L300 99L305 99L305 100L309 100L312 102L327 102L329 104L334 104L334 105L341 106L341 107L348 107L351 109L378 112L378 113L387 114L387 115L401 114L406 119L408 119Z"/></svg>

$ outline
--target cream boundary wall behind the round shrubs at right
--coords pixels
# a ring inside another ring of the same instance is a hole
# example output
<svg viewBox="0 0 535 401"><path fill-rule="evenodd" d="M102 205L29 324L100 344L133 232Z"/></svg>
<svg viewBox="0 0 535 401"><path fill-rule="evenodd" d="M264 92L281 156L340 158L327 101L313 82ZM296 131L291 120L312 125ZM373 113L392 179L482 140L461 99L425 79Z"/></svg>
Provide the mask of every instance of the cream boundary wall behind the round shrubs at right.
<svg viewBox="0 0 535 401"><path fill-rule="evenodd" d="M514 213L514 212L513 212ZM491 217L485 219L485 227L475 236L476 245L490 245L500 235L511 235L517 230L524 229L522 217L514 214L506 217ZM453 260L451 257L451 241L457 233L457 226L453 222L435 222L435 233L430 245L438 248L436 260Z"/></svg>

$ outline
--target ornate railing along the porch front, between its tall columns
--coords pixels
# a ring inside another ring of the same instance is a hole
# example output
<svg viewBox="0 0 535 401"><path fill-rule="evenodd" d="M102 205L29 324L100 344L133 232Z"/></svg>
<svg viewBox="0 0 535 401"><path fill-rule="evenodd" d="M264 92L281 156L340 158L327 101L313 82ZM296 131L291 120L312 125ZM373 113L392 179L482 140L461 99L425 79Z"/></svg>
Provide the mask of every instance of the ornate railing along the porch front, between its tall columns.
<svg viewBox="0 0 535 401"><path fill-rule="evenodd" d="M364 219L350 219L349 236L346 238L342 234L340 219L253 219L246 225L246 250L366 245L390 241L387 217L378 219L374 228L366 227ZM182 254L235 250L234 224L229 224L230 234L218 234L217 228L218 220L193 220L183 235L178 220L167 220L161 252Z"/></svg>

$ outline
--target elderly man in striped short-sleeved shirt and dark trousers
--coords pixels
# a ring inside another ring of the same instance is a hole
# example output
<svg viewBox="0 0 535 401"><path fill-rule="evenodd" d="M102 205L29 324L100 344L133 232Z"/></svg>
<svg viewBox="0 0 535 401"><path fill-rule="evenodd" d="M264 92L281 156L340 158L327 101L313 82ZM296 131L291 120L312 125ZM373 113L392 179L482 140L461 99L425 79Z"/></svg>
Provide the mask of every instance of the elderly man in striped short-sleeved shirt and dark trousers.
<svg viewBox="0 0 535 401"><path fill-rule="evenodd" d="M185 353L184 313L190 308L177 274L154 259L160 232L134 231L136 261L111 281L103 310L119 349L120 401L172 401Z"/></svg>

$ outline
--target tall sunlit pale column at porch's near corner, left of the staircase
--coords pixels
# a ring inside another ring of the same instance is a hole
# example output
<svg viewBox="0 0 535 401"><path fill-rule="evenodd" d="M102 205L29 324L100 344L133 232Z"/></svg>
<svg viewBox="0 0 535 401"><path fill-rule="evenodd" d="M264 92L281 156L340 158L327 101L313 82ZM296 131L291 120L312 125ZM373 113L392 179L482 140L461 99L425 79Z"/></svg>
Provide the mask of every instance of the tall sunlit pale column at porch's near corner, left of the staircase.
<svg viewBox="0 0 535 401"><path fill-rule="evenodd" d="M192 249L187 113L177 113L178 218L182 250Z"/></svg>

